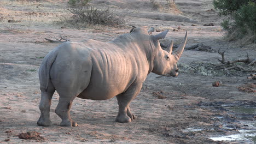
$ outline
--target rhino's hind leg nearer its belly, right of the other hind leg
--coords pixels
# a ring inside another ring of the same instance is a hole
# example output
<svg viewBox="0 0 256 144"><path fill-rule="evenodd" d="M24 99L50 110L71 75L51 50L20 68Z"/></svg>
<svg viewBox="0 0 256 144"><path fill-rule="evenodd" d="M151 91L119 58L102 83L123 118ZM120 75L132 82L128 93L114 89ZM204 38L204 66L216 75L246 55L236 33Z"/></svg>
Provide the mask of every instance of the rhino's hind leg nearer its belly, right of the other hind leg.
<svg viewBox="0 0 256 144"><path fill-rule="evenodd" d="M73 99L60 97L59 103L55 112L62 119L60 126L62 127L76 127L77 123L73 122L70 116L70 109Z"/></svg>

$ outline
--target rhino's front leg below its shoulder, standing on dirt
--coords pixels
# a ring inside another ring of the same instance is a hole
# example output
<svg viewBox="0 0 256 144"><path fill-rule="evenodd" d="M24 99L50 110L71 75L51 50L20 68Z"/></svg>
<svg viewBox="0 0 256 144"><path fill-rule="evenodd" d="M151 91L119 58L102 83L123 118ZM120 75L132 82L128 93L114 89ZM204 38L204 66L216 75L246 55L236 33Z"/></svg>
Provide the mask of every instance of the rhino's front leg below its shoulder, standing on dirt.
<svg viewBox="0 0 256 144"><path fill-rule="evenodd" d="M119 111L115 121L119 123L129 123L135 116L132 115L130 110L131 101L141 91L142 83L133 83L124 93L117 95Z"/></svg>

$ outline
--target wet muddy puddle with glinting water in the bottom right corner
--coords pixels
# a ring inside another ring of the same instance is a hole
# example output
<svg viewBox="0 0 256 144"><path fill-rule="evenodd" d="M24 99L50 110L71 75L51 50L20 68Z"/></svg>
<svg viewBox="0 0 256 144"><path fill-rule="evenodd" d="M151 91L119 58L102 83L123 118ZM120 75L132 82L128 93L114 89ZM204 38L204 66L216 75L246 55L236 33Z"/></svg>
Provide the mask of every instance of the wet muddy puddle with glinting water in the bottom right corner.
<svg viewBox="0 0 256 144"><path fill-rule="evenodd" d="M213 115L214 127L196 128L213 130L210 137L213 141L232 141L234 143L255 143L256 142L256 101L234 101L226 103L215 101L203 103L198 106L203 109L216 111L219 114ZM195 130L195 128L191 131Z"/></svg>

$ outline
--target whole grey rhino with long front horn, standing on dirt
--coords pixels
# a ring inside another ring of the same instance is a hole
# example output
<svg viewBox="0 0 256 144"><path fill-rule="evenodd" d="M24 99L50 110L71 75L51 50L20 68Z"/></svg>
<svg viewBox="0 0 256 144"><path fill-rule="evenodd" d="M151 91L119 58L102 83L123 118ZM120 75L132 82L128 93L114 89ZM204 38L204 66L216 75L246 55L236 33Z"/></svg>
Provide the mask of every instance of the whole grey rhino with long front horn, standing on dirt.
<svg viewBox="0 0 256 144"><path fill-rule="evenodd" d="M39 69L41 111L37 124L51 125L50 105L55 91L60 95L55 112L61 126L77 126L69 111L74 98L106 100L117 97L117 122L127 123L136 117L130 109L131 101L141 91L150 72L177 76L177 61L184 50L182 44L172 52L172 44L162 50L159 39L168 31L150 35L154 29L135 28L108 43L87 40L85 43L66 42L43 59Z"/></svg>

